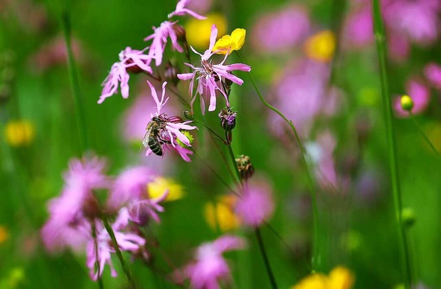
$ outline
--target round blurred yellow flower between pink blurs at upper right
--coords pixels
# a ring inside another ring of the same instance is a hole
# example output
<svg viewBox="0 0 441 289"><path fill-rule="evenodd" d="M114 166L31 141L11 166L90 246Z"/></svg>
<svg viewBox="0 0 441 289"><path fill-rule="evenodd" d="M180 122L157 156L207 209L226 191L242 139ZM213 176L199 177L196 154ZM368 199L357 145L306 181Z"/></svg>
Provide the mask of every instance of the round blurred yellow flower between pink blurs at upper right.
<svg viewBox="0 0 441 289"><path fill-rule="evenodd" d="M336 37L329 30L318 32L307 39L304 50L311 59L329 62L336 50Z"/></svg>

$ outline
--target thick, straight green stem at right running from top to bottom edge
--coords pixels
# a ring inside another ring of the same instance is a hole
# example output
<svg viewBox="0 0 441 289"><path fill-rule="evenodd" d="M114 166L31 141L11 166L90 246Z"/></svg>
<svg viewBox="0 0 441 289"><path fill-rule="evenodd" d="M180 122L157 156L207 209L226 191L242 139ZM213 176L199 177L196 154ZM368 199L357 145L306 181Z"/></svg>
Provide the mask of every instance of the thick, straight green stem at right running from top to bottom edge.
<svg viewBox="0 0 441 289"><path fill-rule="evenodd" d="M386 126L386 139L387 139L387 150L389 156L389 169L392 178L392 192L393 192L393 205L396 215L396 224L398 228L399 235L399 246L404 259L404 277L405 277L405 287L410 289L412 286L411 277L411 259L409 255L409 244L404 232L404 226L402 223L402 196L400 192L400 182L398 177L398 161L396 155L396 139L395 132L392 124L392 103L389 94L389 86L387 79L387 63L386 63L386 43L384 35L384 23L381 14L380 0L372 0L373 8L373 29L376 39L376 48L378 52L378 63L380 65L380 81L381 81L381 92L383 99L383 113L384 121Z"/></svg>

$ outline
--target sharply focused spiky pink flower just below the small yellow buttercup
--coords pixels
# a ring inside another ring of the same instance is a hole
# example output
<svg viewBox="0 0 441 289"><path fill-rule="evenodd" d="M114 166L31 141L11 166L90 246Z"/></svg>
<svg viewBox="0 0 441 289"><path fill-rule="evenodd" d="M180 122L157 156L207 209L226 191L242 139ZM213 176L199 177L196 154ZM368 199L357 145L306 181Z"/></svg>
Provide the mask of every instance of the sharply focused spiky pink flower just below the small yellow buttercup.
<svg viewBox="0 0 441 289"><path fill-rule="evenodd" d="M213 111L216 109L216 90L218 90L221 94L223 94L223 97L225 97L225 101L227 101L227 106L229 106L228 102L228 95L227 92L225 92L225 82L232 81L238 85L242 85L243 80L234 76L231 72L233 70L240 70L240 71L246 71L249 72L251 68L245 64L242 63L234 63L225 66L225 60L227 60L228 53L225 54L225 57L222 62L219 64L213 64L212 61L209 61L209 58L212 57L216 51L213 51L214 44L216 43L216 37L218 35L218 29L215 25L212 26L212 33L210 35L210 41L209 41L209 48L205 50L204 54L200 54L194 48L192 50L201 56L201 68L196 68L195 66L192 66L192 64L185 63L185 65L189 66L194 70L192 73L183 73L178 74L178 79L181 80L189 80L189 94L193 94L193 87L194 87L194 79L198 80L198 87L196 88L196 94L199 94L201 96L201 110L203 113L205 113L205 102L203 99L204 96L209 96L209 107L208 111ZM196 95L194 95L191 105L193 110L193 103L196 99Z"/></svg>

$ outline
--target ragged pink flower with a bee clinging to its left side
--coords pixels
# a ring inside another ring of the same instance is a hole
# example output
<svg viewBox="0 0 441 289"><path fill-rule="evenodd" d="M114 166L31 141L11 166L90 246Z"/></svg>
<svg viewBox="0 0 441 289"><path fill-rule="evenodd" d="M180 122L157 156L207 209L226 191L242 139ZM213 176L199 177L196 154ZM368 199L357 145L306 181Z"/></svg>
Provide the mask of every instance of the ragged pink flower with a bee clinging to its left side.
<svg viewBox="0 0 441 289"><path fill-rule="evenodd" d="M181 132L181 130L194 130L196 126L189 126L187 123L192 121L183 121L181 117L167 117L167 114L161 112L163 106L168 101L164 99L165 97L165 86L167 82L163 83L163 93L161 100L158 99L158 94L152 86L150 81L147 81L152 91L152 97L156 103L156 116L151 115L152 119L150 123L147 124L147 132L143 140L143 145L147 148L145 155L155 155L162 156L163 150L175 150L184 159L184 161L190 161L189 155L192 155L192 151L181 146L192 146L188 137ZM181 143L178 143L181 141Z"/></svg>

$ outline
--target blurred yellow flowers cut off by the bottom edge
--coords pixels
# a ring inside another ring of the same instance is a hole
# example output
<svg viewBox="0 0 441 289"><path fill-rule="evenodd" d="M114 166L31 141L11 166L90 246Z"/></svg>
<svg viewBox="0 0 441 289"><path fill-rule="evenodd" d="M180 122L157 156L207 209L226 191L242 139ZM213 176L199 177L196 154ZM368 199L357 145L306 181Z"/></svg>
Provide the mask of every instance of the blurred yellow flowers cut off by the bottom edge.
<svg viewBox="0 0 441 289"><path fill-rule="evenodd" d="M351 289L355 278L347 268L338 266L329 276L314 273L302 279L291 289Z"/></svg>

